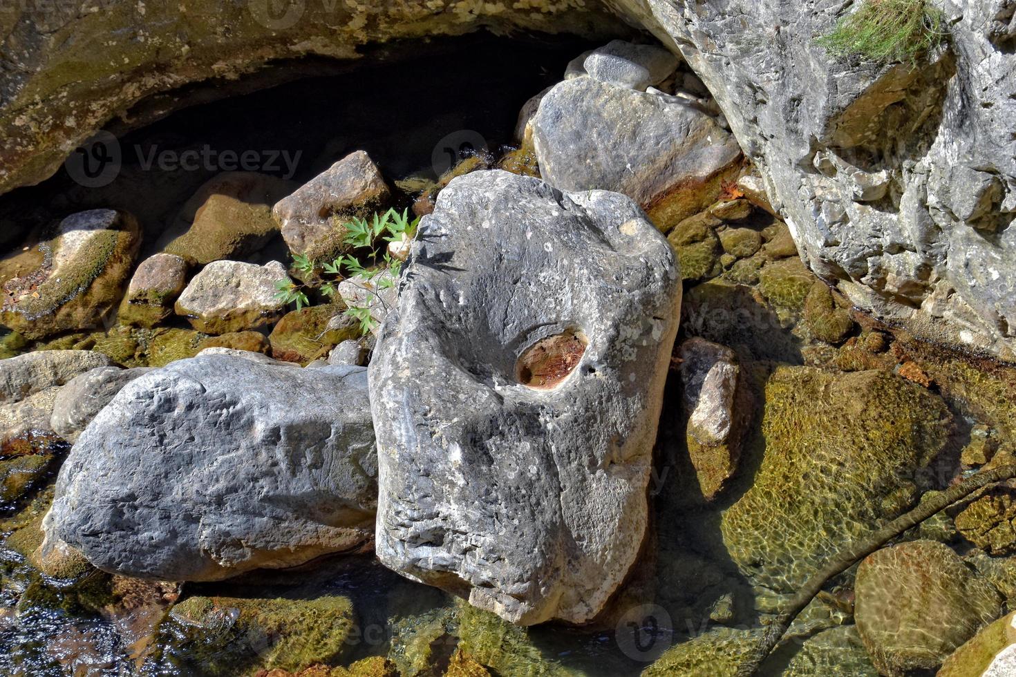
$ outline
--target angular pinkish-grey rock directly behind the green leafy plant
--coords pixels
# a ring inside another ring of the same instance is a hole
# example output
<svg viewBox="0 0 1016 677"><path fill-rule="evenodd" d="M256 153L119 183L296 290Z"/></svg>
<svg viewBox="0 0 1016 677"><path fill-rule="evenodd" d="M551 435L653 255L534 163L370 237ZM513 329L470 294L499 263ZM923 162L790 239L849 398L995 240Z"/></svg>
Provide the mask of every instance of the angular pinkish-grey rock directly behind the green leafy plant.
<svg viewBox="0 0 1016 677"><path fill-rule="evenodd" d="M330 261L345 248L345 222L369 216L388 197L381 171L358 150L278 202L272 214L290 251L312 261Z"/></svg>

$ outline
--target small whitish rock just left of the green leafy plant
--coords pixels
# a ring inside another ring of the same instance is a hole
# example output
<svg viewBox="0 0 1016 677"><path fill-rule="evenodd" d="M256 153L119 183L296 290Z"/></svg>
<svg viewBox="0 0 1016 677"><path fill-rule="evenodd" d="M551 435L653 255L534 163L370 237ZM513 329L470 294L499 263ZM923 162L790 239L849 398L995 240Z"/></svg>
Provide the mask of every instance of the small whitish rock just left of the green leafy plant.
<svg viewBox="0 0 1016 677"><path fill-rule="evenodd" d="M190 281L177 299L176 312L205 334L260 329L285 312L276 283L289 279L277 261L263 266L214 261Z"/></svg>

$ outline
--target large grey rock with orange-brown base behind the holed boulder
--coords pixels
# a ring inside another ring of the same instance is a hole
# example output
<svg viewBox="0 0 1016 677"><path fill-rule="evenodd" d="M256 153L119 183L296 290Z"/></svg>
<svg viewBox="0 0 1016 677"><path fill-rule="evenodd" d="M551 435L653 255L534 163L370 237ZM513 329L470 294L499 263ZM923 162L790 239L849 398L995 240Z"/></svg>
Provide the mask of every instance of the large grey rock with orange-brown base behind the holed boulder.
<svg viewBox="0 0 1016 677"><path fill-rule="evenodd" d="M670 75L652 57L611 52L592 53L585 60L587 68L596 65L592 73L558 83L541 99L530 122L539 173L563 191L624 193L669 230L714 202L724 179L737 178L741 149L709 112L639 89ZM620 63L628 76L619 74ZM658 70L652 77L650 68Z"/></svg>

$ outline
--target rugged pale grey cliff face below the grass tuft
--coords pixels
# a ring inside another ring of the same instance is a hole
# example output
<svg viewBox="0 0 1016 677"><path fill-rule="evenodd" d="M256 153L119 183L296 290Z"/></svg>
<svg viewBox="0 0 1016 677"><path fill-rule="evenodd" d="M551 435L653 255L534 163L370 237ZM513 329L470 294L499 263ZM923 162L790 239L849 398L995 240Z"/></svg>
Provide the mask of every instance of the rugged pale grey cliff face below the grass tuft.
<svg viewBox="0 0 1016 677"><path fill-rule="evenodd" d="M817 46L835 0L610 1L705 81L815 272L1016 359L1016 2L937 0L949 37L910 69Z"/></svg>

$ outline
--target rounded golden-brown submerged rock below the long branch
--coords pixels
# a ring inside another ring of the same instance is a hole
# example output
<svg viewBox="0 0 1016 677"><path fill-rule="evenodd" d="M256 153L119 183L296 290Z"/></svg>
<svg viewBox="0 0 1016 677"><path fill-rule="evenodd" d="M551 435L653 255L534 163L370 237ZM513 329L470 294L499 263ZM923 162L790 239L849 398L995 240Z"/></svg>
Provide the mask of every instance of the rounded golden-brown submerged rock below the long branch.
<svg viewBox="0 0 1016 677"><path fill-rule="evenodd" d="M854 619L876 667L935 670L1002 613L1002 597L948 546L910 541L861 562Z"/></svg>

